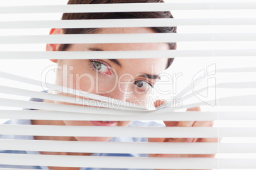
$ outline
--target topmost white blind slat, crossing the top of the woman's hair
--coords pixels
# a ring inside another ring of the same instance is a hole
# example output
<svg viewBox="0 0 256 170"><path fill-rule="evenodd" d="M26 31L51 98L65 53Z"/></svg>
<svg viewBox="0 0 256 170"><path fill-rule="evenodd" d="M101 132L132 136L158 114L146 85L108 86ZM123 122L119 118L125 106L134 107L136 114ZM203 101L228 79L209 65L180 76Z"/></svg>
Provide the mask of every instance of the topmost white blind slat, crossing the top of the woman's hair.
<svg viewBox="0 0 256 170"><path fill-rule="evenodd" d="M47 6L4 6L3 13L109 13L174 10L255 10L255 2L239 3L125 3L125 4L71 4Z"/></svg>

